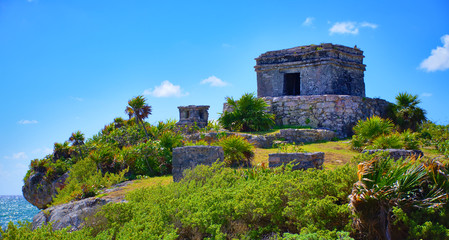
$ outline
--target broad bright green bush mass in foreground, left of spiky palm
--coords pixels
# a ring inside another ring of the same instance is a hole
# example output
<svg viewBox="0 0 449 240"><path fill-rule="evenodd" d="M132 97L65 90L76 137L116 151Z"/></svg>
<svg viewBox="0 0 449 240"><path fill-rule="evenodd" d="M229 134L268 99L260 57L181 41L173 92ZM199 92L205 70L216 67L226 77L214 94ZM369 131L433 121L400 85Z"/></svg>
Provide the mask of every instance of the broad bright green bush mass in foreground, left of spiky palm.
<svg viewBox="0 0 449 240"><path fill-rule="evenodd" d="M280 171L200 166L180 183L107 205L93 232L109 230L118 239L260 239L303 228L349 230L353 168Z"/></svg>

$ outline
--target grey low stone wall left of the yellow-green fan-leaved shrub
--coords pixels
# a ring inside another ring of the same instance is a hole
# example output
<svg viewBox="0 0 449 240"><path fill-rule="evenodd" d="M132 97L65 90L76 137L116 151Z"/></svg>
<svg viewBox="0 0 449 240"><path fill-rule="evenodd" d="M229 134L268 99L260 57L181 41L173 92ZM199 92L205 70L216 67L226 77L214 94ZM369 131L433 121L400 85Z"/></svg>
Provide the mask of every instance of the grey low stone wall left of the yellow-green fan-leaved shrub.
<svg viewBox="0 0 449 240"><path fill-rule="evenodd" d="M217 146L187 146L173 149L173 181L179 182L186 169L193 169L197 165L212 165L216 161L223 161L224 151Z"/></svg>

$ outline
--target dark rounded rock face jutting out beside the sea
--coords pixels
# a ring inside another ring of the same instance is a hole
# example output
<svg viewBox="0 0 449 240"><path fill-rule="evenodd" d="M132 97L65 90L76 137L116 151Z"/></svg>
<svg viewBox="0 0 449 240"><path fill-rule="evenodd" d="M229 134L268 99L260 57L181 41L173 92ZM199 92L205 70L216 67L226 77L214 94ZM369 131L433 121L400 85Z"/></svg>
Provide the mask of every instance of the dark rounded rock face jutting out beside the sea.
<svg viewBox="0 0 449 240"><path fill-rule="evenodd" d="M65 184L69 174L65 173L54 181L45 179L45 172L36 172L31 175L22 187L25 199L39 209L46 208Z"/></svg>

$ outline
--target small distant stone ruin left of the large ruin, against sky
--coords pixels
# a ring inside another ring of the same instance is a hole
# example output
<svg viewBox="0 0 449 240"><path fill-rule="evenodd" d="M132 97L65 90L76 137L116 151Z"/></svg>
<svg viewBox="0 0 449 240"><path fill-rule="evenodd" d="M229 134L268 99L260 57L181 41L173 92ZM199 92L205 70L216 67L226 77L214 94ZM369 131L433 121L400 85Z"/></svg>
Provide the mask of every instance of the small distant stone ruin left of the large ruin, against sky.
<svg viewBox="0 0 449 240"><path fill-rule="evenodd" d="M209 119L209 107L206 105L179 106L179 122L176 125L191 127L196 124L199 128L206 127Z"/></svg>

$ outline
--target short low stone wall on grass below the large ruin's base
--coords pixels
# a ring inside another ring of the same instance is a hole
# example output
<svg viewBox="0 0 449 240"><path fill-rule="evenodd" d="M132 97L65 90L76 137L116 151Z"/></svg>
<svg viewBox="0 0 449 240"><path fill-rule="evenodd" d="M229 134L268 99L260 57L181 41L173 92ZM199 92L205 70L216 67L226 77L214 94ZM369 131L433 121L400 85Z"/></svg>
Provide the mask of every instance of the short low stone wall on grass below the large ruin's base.
<svg viewBox="0 0 449 240"><path fill-rule="evenodd" d="M297 163L293 167L293 170L308 168L322 169L324 153L272 153L268 155L268 166L270 168L279 167L290 162Z"/></svg>

